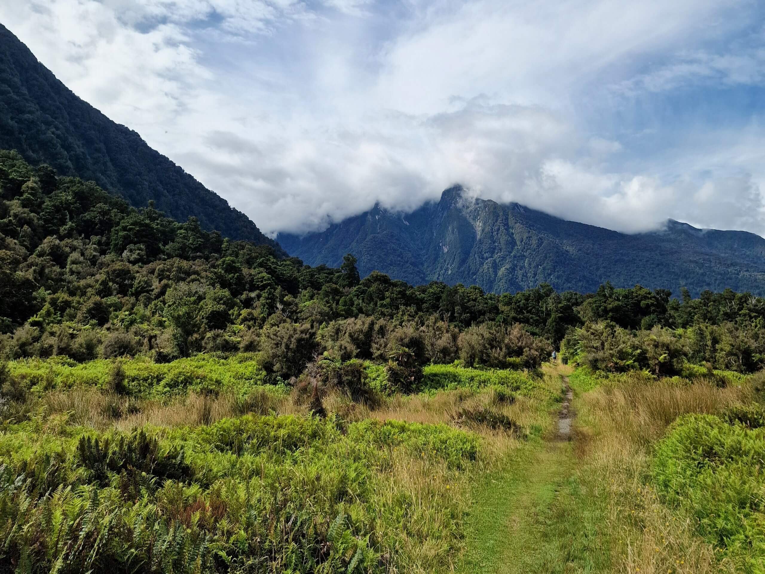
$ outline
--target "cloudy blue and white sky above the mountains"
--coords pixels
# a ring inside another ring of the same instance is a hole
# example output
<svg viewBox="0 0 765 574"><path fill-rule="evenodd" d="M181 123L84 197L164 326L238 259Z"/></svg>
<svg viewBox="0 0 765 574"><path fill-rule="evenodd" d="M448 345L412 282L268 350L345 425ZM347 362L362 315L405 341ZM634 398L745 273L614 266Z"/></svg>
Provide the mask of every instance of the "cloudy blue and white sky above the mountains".
<svg viewBox="0 0 765 574"><path fill-rule="evenodd" d="M265 233L472 194L765 235L756 0L18 0L78 96Z"/></svg>

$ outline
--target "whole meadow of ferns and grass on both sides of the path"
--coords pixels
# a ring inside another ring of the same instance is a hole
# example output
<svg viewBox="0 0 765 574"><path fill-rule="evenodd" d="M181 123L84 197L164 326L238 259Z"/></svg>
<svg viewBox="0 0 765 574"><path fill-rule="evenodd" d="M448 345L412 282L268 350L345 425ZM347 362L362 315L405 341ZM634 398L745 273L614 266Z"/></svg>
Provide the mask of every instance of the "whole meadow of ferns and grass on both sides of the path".
<svg viewBox="0 0 765 574"><path fill-rule="evenodd" d="M2 368L0 572L762 572L761 375ZM569 384L571 437L556 417Z"/></svg>

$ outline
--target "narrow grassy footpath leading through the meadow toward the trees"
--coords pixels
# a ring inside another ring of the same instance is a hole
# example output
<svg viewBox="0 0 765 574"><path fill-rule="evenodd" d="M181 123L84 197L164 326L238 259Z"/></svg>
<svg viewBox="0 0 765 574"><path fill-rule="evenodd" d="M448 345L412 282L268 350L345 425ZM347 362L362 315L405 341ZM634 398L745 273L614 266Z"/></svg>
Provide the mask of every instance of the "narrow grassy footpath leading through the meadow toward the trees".
<svg viewBox="0 0 765 574"><path fill-rule="evenodd" d="M457 572L608 572L599 532L604 501L578 476L574 393L568 377L562 382L557 435L529 442L477 488L466 525L467 553Z"/></svg>

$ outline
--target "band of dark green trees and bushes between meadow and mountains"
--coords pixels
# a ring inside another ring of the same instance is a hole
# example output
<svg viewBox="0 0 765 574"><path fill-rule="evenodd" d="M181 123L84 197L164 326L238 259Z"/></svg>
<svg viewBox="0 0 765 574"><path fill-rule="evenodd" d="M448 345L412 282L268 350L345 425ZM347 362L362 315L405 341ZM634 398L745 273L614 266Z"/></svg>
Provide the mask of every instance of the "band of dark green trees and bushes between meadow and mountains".
<svg viewBox="0 0 765 574"><path fill-rule="evenodd" d="M730 290L678 299L640 285L606 284L589 295L539 285L494 295L475 285L413 287L378 272L360 279L353 256L338 269L305 266L269 246L223 239L193 217L178 223L152 204L136 210L15 152L0 152L0 192L5 358L145 353L164 362L259 351L274 376L288 379L325 351L340 361L405 353L403 363L534 367L567 333L568 348L581 353L593 329L603 345L658 329L706 337L683 356L708 361L719 354L715 341L759 341L765 321L765 300ZM758 368L750 349L750 359L722 362Z"/></svg>

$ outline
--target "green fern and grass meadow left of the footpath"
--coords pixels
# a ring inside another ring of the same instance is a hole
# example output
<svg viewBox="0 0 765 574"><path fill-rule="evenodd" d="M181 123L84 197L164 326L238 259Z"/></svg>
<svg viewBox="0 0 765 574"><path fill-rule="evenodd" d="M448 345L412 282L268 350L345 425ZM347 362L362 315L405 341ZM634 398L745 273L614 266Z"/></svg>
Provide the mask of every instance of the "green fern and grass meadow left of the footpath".
<svg viewBox="0 0 765 574"><path fill-rule="evenodd" d="M318 417L251 359L11 361L8 571L448 571L472 482L549 432L561 388L426 367L421 393L330 390Z"/></svg>

